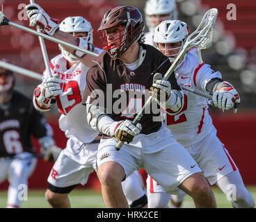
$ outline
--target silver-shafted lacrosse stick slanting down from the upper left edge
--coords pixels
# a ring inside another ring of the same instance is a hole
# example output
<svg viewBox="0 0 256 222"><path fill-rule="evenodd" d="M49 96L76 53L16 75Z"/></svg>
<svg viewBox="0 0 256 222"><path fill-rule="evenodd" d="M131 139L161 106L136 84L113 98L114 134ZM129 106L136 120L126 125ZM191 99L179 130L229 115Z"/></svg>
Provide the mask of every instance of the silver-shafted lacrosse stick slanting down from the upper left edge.
<svg viewBox="0 0 256 222"><path fill-rule="evenodd" d="M43 37L43 38L45 38L47 40L50 40L52 42L56 42L58 44L63 44L64 46L70 47L71 49L74 49L74 50L77 50L77 51L81 51L81 52L86 53L90 56L95 56L95 57L99 56L97 53L94 53L92 51L88 51L86 49L81 49L78 46L75 46L74 44L70 44L70 43L65 42L63 40L58 40L56 37L52 37L50 35L45 35L44 33L40 33L38 31L35 31L35 30L31 29L31 28L27 28L26 26L22 26L20 24L15 23L15 22L11 22L1 11L0 11L0 26L12 26L14 28L19 28L22 31L26 31L27 33L31 33L33 35L38 35L40 37Z"/></svg>

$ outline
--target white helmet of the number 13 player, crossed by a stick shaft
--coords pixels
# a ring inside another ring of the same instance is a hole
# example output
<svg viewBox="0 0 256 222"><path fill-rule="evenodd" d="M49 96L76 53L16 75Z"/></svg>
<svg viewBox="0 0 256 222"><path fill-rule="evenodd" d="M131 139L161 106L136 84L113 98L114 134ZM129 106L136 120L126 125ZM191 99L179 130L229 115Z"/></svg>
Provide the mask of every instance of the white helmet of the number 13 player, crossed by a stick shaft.
<svg viewBox="0 0 256 222"><path fill-rule="evenodd" d="M73 33L73 35L74 33L87 33L87 36L83 37L83 39L88 43L93 44L93 28L90 22L81 16L66 17L60 24L60 31L65 33ZM58 46L66 60L70 62L77 62L77 56L65 51L60 44Z"/></svg>

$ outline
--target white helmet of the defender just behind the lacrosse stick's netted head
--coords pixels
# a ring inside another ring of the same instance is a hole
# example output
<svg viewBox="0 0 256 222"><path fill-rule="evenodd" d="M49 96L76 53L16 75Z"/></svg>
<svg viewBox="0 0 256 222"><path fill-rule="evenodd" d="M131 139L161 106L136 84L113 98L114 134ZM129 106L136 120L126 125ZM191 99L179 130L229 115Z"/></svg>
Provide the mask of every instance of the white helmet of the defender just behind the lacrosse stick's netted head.
<svg viewBox="0 0 256 222"><path fill-rule="evenodd" d="M185 22L180 20L166 20L161 22L155 29L154 29L154 47L159 49L159 43L165 44L166 56L169 57L170 62L175 60L175 56L179 54L184 46L184 42L186 42L186 38L189 36L189 28ZM168 49L168 43L175 43L175 42L182 42L181 46L177 48ZM167 55L167 51L179 49L178 53L170 53ZM163 50L163 49L161 49ZM182 63L182 62L181 62Z"/></svg>

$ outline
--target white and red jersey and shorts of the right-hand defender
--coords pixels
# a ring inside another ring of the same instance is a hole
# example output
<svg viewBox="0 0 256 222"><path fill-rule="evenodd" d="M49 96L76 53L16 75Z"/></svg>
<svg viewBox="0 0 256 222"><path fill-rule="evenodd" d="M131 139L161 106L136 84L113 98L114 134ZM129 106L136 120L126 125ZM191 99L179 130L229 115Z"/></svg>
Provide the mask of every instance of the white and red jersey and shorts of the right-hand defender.
<svg viewBox="0 0 256 222"><path fill-rule="evenodd" d="M205 92L212 78L221 78L219 71L213 71L210 65L199 64L197 49L191 49L184 62L175 70L177 83ZM166 114L166 126L172 131L177 142L191 154L198 163L210 184L215 184L223 176L237 171L232 157L216 136L208 112L208 101L202 96L184 90L184 107L174 116ZM147 178L147 190L163 192L160 185Z"/></svg>

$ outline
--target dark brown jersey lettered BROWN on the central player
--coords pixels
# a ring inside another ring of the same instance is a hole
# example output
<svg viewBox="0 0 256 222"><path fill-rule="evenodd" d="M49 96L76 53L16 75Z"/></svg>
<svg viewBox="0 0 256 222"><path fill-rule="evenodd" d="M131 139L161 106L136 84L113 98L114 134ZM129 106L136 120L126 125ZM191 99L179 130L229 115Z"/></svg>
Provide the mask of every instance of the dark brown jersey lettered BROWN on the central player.
<svg viewBox="0 0 256 222"><path fill-rule="evenodd" d="M93 101L95 101L93 98L90 98L90 101L88 101L88 96L90 96L93 90L101 89L104 92L104 108L108 110L107 113L109 114L109 117L115 121L125 119L130 119L132 121L136 117L134 115L134 117L128 118L122 114L122 112L116 113L111 109L115 108L115 102L120 98L126 99L123 100L123 103L125 103L123 110L127 108L129 101L134 97L136 99L141 99L141 103L144 105L145 100L149 96L148 92L150 87L152 87L154 74L159 72L164 76L170 67L168 57L164 56L160 51L147 44L141 44L141 46L143 46L143 49L146 49L146 55L142 64L134 71L128 69L121 60L111 60L106 51L95 60L95 65L88 70L87 74L87 85L83 96L84 105L86 102L93 103ZM172 89L180 90L174 74L170 76L169 81ZM113 95L107 92L106 84L111 84L112 92L118 90L120 96L118 98L113 98ZM134 94L129 94L127 92L136 92L136 95L134 96ZM122 94L125 94L124 97L122 97ZM98 100L102 101L103 98L98 98ZM136 110L136 112L138 111L139 110ZM142 125L141 133L150 134L161 128L161 121L153 121L153 116L159 116L159 113L153 114L153 112L150 112L143 116L140 121Z"/></svg>

